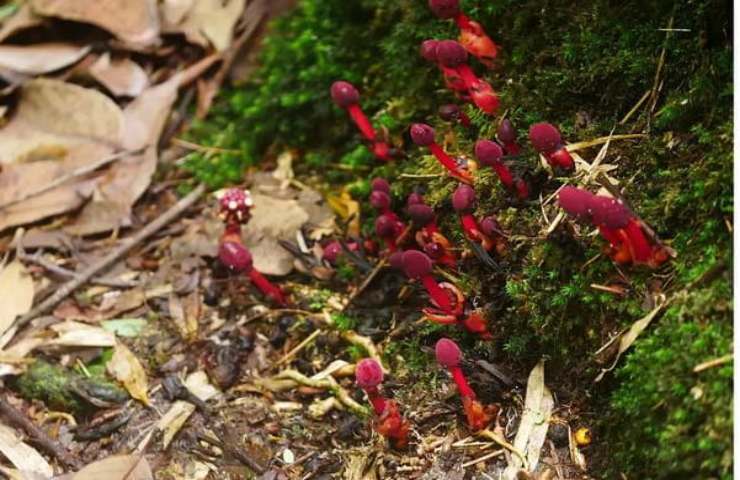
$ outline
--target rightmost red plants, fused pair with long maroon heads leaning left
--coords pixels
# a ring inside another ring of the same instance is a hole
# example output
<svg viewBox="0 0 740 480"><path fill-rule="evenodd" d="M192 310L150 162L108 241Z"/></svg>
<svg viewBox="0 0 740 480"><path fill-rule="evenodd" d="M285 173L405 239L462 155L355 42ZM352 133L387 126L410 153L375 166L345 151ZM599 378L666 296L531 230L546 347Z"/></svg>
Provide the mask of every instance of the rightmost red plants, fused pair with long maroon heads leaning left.
<svg viewBox="0 0 740 480"><path fill-rule="evenodd" d="M565 186L558 194L558 203L576 220L599 229L609 242L607 254L615 262L656 268L668 260L666 247L646 235L640 218L619 200Z"/></svg>

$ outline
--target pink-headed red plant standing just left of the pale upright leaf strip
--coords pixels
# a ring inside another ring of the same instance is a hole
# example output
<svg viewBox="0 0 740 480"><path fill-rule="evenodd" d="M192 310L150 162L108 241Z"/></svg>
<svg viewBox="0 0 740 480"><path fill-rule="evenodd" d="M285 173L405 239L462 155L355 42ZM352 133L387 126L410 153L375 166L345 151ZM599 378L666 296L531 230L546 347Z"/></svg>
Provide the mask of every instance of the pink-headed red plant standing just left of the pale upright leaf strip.
<svg viewBox="0 0 740 480"><path fill-rule="evenodd" d="M483 430L491 423L495 409L493 407L484 407L476 398L475 392L468 384L465 374L460 367L462 361L462 352L460 347L449 338L441 338L435 346L437 362L449 370L452 379L457 385L457 390L462 399L465 417L468 420L468 426L473 431Z"/></svg>

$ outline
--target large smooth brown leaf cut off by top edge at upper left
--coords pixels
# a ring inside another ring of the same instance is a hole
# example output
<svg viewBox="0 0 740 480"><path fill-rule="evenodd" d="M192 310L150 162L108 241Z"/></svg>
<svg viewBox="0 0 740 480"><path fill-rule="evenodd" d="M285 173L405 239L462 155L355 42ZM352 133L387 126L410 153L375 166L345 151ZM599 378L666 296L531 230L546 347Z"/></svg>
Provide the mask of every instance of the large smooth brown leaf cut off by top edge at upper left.
<svg viewBox="0 0 740 480"><path fill-rule="evenodd" d="M31 0L38 15L90 23L136 46L159 40L155 0Z"/></svg>

